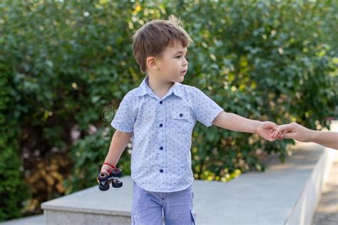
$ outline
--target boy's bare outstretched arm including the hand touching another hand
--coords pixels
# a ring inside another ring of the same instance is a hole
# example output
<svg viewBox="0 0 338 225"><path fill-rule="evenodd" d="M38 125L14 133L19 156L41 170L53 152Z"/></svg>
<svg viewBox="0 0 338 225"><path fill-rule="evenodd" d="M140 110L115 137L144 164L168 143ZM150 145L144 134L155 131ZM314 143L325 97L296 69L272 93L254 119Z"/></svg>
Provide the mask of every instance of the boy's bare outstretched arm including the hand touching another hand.
<svg viewBox="0 0 338 225"><path fill-rule="evenodd" d="M274 141L275 123L273 122L260 122L258 120L250 120L241 117L234 113L221 112L215 120L212 121L217 127L222 127L227 130L238 132L248 132L260 135L269 141Z"/></svg>

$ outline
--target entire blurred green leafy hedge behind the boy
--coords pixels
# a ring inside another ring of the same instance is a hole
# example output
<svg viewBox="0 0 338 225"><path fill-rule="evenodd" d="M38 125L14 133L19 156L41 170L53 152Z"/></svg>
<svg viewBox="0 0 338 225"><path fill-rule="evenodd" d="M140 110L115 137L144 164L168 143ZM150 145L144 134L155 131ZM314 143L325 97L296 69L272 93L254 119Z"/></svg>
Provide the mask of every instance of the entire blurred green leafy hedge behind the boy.
<svg viewBox="0 0 338 225"><path fill-rule="evenodd" d="M97 184L110 122L145 76L131 36L170 14L194 41L183 83L225 111L317 130L337 118L338 1L0 1L0 221ZM194 177L264 171L292 144L198 123Z"/></svg>

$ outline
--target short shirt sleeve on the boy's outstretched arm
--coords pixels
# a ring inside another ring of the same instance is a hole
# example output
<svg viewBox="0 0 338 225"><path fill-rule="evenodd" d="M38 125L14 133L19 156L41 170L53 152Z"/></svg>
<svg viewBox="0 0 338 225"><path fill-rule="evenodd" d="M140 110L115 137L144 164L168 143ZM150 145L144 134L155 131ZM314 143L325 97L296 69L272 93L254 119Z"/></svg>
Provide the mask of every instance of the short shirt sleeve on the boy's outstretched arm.
<svg viewBox="0 0 338 225"><path fill-rule="evenodd" d="M193 108L196 120L203 123L206 127L210 127L217 115L224 111L208 95L205 95L205 93L195 87L193 87Z"/></svg>

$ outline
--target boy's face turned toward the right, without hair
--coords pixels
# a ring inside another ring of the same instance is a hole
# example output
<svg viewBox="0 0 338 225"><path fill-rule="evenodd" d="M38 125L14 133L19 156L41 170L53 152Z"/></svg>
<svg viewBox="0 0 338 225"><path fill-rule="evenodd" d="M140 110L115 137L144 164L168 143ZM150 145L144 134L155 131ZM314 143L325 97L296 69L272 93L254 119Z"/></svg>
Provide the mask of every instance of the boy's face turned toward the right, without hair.
<svg viewBox="0 0 338 225"><path fill-rule="evenodd" d="M184 80L188 70L188 61L185 58L187 52L187 48L183 48L180 41L165 48L162 56L157 58L158 76L161 80L166 82L182 82Z"/></svg>

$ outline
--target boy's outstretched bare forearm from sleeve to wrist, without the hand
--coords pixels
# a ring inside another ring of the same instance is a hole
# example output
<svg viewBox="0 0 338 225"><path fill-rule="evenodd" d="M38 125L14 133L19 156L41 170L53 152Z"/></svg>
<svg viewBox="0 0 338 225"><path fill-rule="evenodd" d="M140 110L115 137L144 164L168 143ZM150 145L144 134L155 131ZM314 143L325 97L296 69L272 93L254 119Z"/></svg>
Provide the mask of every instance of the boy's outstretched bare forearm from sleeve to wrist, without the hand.
<svg viewBox="0 0 338 225"><path fill-rule="evenodd" d="M250 120L240 115L229 112L221 112L213 121L214 125L238 132L256 133L260 125L258 120Z"/></svg>

